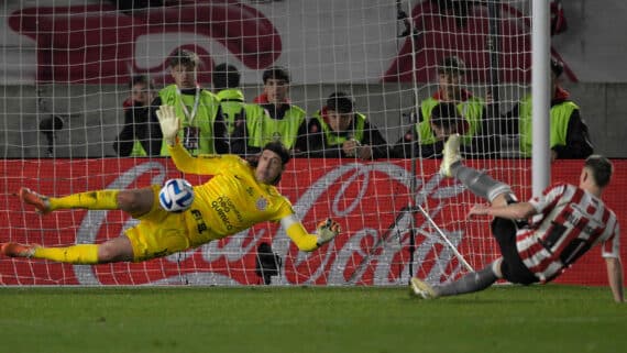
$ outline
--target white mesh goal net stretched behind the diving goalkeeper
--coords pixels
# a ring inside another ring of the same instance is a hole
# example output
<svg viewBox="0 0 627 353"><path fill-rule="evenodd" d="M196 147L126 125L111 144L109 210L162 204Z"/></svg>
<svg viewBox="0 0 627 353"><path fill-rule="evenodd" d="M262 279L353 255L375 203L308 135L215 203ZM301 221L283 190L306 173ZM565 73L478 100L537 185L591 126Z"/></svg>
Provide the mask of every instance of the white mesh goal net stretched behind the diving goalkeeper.
<svg viewBox="0 0 627 353"><path fill-rule="evenodd" d="M327 123L328 98L345 92L386 145L374 146L383 147L374 161L365 152L289 163L278 189L307 230L327 217L343 228L311 253L299 252L277 224L261 223L143 263L0 257L0 283L405 285L410 276L437 283L482 268L497 247L486 219L465 218L481 200L438 174L437 147L430 155L413 142L438 145L417 125L438 102L453 101L459 119L441 123L484 137L466 163L509 183L520 198L530 196L529 161L499 123L529 88L529 7L525 0L2 2L1 242L102 243L138 223L106 210L42 217L19 201L22 186L65 196L172 177L207 181L180 174L166 156L120 156L114 148L133 104L129 82L147 75L158 95L174 84L168 57L180 48L199 56L198 85L209 91L215 67L237 67L250 103L272 66L288 69L288 101L308 119L320 112ZM451 86L455 93L443 91ZM264 243L270 252L260 249Z"/></svg>

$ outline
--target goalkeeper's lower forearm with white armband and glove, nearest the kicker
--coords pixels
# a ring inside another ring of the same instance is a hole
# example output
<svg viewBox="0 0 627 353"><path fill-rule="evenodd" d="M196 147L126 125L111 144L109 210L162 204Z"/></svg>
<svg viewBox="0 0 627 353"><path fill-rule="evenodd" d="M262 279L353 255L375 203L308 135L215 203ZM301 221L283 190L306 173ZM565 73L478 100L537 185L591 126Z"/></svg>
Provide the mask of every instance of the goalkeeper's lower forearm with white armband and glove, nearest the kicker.
<svg viewBox="0 0 627 353"><path fill-rule="evenodd" d="M333 240L342 231L340 223L330 218L318 223L316 234L309 234L296 214L280 219L280 225L298 250L310 252Z"/></svg>

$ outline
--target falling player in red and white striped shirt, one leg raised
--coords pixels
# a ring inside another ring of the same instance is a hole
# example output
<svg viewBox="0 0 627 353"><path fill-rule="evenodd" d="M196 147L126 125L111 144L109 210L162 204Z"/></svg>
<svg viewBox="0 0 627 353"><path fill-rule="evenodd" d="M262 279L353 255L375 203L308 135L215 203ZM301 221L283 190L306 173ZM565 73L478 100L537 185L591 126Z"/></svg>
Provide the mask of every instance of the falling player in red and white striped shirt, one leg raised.
<svg viewBox="0 0 627 353"><path fill-rule="evenodd" d="M451 135L447 141L440 174L458 179L474 195L490 201L490 205L475 205L469 217L494 218L492 232L502 256L483 269L446 285L431 286L411 278L410 288L416 297L435 299L475 293L499 278L521 285L548 283L588 250L601 245L614 300L625 301L618 220L602 200L613 174L607 158L587 157L578 186L558 183L542 195L519 202L509 185L461 162L459 137Z"/></svg>

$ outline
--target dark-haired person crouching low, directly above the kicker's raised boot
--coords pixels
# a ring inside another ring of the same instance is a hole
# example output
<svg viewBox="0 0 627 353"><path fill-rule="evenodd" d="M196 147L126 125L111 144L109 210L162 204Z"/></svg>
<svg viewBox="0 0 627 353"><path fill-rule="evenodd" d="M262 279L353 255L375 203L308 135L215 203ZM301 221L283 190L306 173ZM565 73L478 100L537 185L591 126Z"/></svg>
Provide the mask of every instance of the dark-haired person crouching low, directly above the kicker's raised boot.
<svg viewBox="0 0 627 353"><path fill-rule="evenodd" d="M431 110L428 120L433 131L436 141L433 143L418 143L417 131L413 130L414 136L407 136L394 146L393 155L404 158L411 156L411 141L414 144L414 156L420 158L440 158L447 137L454 133L463 134L468 129L468 121L460 117L458 107L453 102L440 102ZM409 143L406 143L408 141Z"/></svg>

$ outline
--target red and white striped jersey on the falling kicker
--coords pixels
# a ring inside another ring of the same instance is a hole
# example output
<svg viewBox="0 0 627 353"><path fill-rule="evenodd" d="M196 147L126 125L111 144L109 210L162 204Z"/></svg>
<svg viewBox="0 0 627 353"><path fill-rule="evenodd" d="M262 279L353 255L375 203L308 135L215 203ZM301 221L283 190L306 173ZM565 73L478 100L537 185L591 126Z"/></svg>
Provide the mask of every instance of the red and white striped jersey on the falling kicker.
<svg viewBox="0 0 627 353"><path fill-rule="evenodd" d="M603 257L619 257L616 214L592 194L569 184L547 188L529 203L537 213L518 230L520 258L540 282L559 276L587 250L603 244Z"/></svg>

